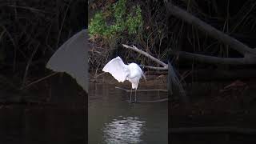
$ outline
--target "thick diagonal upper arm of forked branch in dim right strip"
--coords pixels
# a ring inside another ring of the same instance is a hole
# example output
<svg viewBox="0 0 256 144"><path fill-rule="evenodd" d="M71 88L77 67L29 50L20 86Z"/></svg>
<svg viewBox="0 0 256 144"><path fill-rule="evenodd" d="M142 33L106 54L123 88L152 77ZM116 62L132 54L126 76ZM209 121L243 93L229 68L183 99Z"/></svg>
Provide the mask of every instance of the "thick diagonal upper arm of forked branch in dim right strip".
<svg viewBox="0 0 256 144"><path fill-rule="evenodd" d="M177 18L181 18L183 21L190 23L191 25L197 26L198 29L206 32L213 38L227 44L230 48L237 50L241 54L256 54L256 50L251 49L249 46L244 45L237 39L230 37L227 34L222 33L220 30L215 29L206 22L202 22L199 18L194 17L192 14L187 13L178 6L174 6L171 2L167 3L168 12Z"/></svg>

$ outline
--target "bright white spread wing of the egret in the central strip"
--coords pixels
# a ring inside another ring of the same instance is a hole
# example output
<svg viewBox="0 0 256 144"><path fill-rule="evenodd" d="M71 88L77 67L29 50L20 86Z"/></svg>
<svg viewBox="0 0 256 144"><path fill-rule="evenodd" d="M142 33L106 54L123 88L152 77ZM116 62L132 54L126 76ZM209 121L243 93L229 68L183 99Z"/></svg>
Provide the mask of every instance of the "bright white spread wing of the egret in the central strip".
<svg viewBox="0 0 256 144"><path fill-rule="evenodd" d="M117 57L108 62L102 71L110 73L118 82L124 82L126 80L126 67L122 59Z"/></svg>

